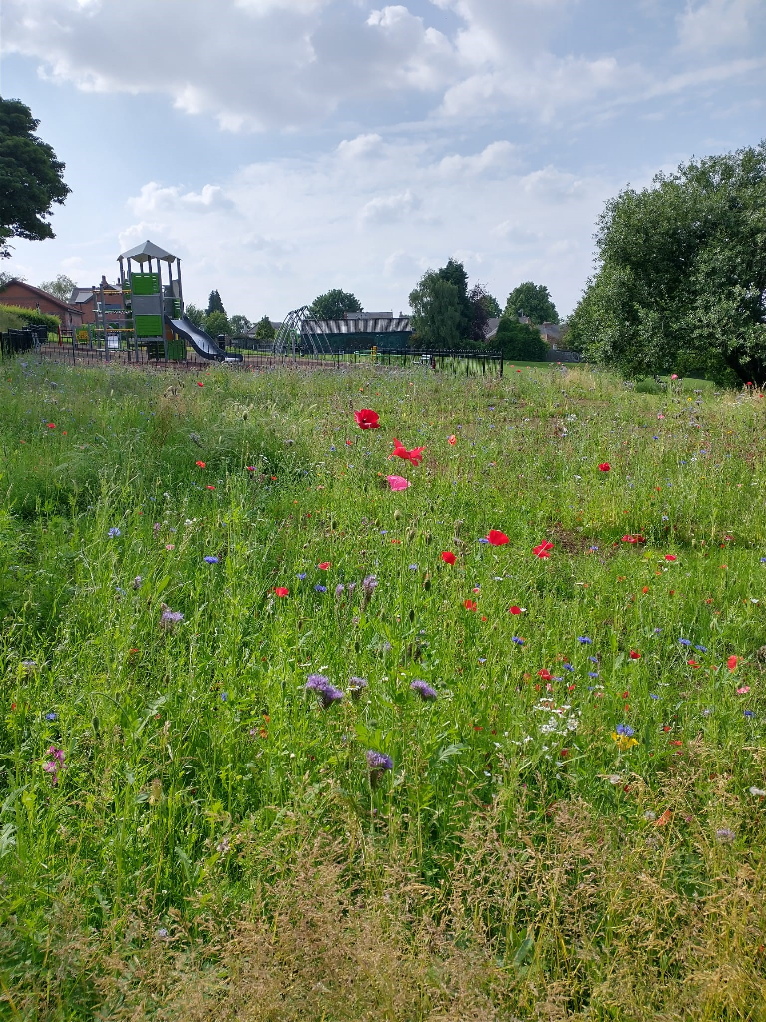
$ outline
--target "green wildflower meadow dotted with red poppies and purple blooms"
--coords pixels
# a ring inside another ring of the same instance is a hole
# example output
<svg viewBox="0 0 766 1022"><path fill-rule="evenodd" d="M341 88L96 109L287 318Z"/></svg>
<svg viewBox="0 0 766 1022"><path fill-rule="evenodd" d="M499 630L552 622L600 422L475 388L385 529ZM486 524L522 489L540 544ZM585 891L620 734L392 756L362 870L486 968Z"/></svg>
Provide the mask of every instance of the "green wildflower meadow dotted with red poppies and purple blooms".
<svg viewBox="0 0 766 1022"><path fill-rule="evenodd" d="M764 405L6 365L0 1015L766 1018Z"/></svg>

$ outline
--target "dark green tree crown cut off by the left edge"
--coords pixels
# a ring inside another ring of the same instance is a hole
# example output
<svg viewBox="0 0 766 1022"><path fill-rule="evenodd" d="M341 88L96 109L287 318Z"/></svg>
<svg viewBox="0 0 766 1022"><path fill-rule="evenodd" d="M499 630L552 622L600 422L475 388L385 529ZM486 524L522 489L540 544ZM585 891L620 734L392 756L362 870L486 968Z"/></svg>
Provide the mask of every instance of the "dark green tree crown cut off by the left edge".
<svg viewBox="0 0 766 1022"><path fill-rule="evenodd" d="M65 165L35 134L39 124L20 100L0 96L0 259L10 256L9 238L55 237L44 218L71 190L63 180Z"/></svg>

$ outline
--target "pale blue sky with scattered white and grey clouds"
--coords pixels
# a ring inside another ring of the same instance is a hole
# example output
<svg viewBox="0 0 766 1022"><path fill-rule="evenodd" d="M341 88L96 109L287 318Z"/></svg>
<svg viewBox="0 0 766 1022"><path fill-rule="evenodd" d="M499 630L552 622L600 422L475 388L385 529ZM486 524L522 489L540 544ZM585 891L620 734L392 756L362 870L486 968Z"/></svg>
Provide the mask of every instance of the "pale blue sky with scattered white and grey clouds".
<svg viewBox="0 0 766 1022"><path fill-rule="evenodd" d="M2 44L73 189L2 269L90 285L148 237L253 320L397 314L449 256L565 315L610 196L766 135L764 0L4 0Z"/></svg>

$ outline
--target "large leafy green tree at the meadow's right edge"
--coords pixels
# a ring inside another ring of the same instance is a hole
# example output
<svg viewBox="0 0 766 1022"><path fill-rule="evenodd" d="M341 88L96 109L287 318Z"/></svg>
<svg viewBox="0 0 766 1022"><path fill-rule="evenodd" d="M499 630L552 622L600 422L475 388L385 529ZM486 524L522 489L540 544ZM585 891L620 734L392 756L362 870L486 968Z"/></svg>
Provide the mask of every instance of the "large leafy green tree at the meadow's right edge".
<svg viewBox="0 0 766 1022"><path fill-rule="evenodd" d="M766 380L766 141L611 199L569 343L634 375Z"/></svg>

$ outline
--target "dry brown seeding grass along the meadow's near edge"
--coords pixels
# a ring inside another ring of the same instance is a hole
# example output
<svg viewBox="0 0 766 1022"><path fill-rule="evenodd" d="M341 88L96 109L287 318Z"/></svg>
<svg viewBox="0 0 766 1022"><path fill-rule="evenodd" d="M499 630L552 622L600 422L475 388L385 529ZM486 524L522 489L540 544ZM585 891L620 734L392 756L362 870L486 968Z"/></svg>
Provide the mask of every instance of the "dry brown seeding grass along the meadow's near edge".
<svg viewBox="0 0 766 1022"><path fill-rule="evenodd" d="M265 880L238 905L211 884L166 937L140 901L99 934L70 908L5 1005L126 1022L766 1019L758 855L729 873L720 849L701 849L708 893L695 896L679 890L670 828L653 848L569 802L533 842L517 816L510 835L499 811L478 812L435 886L349 818L347 842L304 835L289 864L277 844L246 846ZM100 1015L69 1013L77 998Z"/></svg>

